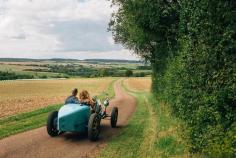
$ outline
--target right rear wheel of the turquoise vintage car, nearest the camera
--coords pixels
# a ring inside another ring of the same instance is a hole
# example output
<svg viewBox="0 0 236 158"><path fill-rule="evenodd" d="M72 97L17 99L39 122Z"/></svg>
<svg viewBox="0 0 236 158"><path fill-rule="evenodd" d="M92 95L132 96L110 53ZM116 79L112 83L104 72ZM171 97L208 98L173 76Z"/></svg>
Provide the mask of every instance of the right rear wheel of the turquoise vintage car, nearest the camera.
<svg viewBox="0 0 236 158"><path fill-rule="evenodd" d="M88 123L88 138L91 141L98 140L100 134L100 122L101 119L96 113L91 114Z"/></svg>

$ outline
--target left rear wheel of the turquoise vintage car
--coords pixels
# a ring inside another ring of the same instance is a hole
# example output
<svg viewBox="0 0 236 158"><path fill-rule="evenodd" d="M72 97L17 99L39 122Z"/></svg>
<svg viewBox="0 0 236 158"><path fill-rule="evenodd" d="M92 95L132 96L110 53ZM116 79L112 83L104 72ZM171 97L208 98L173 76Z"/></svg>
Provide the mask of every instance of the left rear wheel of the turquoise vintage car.
<svg viewBox="0 0 236 158"><path fill-rule="evenodd" d="M58 111L53 111L48 116L47 132L51 137L59 135L59 131L57 130L57 119Z"/></svg>

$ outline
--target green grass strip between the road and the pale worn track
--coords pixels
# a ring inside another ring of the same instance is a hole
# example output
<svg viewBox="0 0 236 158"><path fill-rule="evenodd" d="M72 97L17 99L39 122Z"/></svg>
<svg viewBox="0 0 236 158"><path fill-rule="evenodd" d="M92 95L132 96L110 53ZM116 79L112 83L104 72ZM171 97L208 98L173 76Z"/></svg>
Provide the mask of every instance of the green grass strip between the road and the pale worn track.
<svg viewBox="0 0 236 158"><path fill-rule="evenodd" d="M146 114L148 109L143 104L143 100L138 100L138 108L129 124L121 132L113 137L107 147L102 151L100 157L138 157L138 150L145 139L144 131L147 128L148 120Z"/></svg>

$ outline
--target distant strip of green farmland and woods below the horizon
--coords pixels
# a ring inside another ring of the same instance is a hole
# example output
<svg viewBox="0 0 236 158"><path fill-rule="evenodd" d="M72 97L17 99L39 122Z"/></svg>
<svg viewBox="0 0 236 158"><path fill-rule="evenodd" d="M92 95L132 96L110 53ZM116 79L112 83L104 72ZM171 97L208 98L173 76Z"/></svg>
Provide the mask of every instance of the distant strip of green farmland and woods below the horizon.
<svg viewBox="0 0 236 158"><path fill-rule="evenodd" d="M151 74L148 64L137 61L105 59L4 59L0 58L0 80L19 78L73 78L73 77L124 77L132 70L133 76L144 77ZM23 77L21 75L24 75ZM18 76L18 77L17 77Z"/></svg>

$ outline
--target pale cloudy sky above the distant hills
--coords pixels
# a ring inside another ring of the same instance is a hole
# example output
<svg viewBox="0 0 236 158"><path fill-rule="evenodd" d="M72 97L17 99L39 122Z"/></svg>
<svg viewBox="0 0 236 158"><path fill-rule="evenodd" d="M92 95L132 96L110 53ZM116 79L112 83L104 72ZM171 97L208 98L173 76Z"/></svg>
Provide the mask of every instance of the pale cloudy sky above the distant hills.
<svg viewBox="0 0 236 158"><path fill-rule="evenodd" d="M138 60L107 31L108 0L0 0L0 58Z"/></svg>

